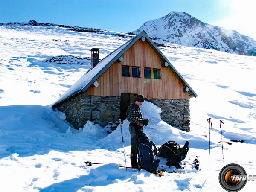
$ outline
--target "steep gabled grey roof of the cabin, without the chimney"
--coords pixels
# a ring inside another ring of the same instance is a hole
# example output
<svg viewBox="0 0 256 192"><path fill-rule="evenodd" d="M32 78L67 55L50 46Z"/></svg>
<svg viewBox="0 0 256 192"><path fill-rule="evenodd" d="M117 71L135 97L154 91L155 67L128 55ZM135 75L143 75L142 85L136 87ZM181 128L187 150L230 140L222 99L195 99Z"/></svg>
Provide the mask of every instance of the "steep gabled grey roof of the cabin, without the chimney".
<svg viewBox="0 0 256 192"><path fill-rule="evenodd" d="M135 44L140 38L145 37L145 40L148 44L154 49L157 55L162 59L163 63L167 62L168 67L175 73L178 79L183 83L184 86L189 88L189 92L197 97L195 91L189 86L189 84L183 79L180 73L172 66L170 61L163 55L163 53L157 48L153 41L148 37L145 31L136 35L134 38L131 38L125 44L111 52L105 58L103 58L99 63L85 73L75 84L73 84L57 101L52 105L54 107L58 103L70 98L71 96L80 93L81 91L86 91L106 70L108 70L111 65L116 62L131 46Z"/></svg>

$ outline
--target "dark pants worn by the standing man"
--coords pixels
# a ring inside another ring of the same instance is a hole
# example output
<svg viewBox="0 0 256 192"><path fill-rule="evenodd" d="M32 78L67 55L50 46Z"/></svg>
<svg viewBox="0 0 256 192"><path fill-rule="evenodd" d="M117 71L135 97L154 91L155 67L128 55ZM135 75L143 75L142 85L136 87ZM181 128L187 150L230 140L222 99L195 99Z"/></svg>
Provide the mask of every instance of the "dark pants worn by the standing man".
<svg viewBox="0 0 256 192"><path fill-rule="evenodd" d="M138 139L143 132L142 126L129 125L129 131L131 134L131 166L137 167Z"/></svg>

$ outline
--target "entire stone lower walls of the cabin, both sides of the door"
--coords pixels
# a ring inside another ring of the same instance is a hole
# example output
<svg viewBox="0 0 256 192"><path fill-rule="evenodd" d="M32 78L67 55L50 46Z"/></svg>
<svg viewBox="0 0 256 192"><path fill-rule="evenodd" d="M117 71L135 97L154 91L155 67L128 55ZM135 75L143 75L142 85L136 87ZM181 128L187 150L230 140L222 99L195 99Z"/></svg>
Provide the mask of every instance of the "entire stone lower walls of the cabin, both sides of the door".
<svg viewBox="0 0 256 192"><path fill-rule="evenodd" d="M161 119L183 131L190 131L189 100L145 99L162 109ZM88 96L87 92L59 103L56 108L66 114L66 120L75 128L83 127L87 120L102 127L108 122L119 122L121 97Z"/></svg>

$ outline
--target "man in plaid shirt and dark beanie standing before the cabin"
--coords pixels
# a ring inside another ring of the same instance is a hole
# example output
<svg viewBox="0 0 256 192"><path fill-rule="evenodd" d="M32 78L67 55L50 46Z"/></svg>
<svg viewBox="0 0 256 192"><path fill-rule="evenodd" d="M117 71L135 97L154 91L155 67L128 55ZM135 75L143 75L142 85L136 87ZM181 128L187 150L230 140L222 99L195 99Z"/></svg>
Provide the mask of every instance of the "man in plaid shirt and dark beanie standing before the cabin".
<svg viewBox="0 0 256 192"><path fill-rule="evenodd" d="M130 122L129 131L131 134L131 167L140 168L137 162L138 139L143 133L143 126L148 125L148 119L142 119L140 105L144 102L142 95L134 97L134 102L127 108L126 119Z"/></svg>

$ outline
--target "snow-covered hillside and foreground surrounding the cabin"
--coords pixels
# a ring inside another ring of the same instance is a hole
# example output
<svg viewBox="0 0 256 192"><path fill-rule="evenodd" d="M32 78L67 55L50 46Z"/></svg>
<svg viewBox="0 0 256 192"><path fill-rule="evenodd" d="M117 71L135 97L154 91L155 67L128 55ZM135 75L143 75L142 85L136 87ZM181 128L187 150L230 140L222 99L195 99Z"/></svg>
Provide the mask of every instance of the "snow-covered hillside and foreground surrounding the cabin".
<svg viewBox="0 0 256 192"><path fill-rule="evenodd" d="M111 134L93 122L75 130L63 113L51 108L90 68L92 47L99 47L104 58L128 40L113 32L75 32L61 26L0 26L0 191L224 191L218 183L224 165L238 163L247 175L255 175L255 57L166 42L166 47L160 47L198 93L190 100L192 131L166 124L160 119L160 108L145 102L142 111L150 123L144 132L157 146L167 140L181 145L189 141L182 174L156 177L143 170L126 172L116 166L125 165L120 125ZM210 166L209 117L213 124ZM219 119L224 122L224 141L244 140L223 143L224 162ZM130 166L126 120L122 130ZM192 168L196 155L200 171ZM85 160L105 164L90 167ZM165 163L160 158L161 168L175 169ZM247 182L241 191L254 186Z"/></svg>

